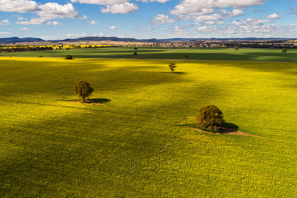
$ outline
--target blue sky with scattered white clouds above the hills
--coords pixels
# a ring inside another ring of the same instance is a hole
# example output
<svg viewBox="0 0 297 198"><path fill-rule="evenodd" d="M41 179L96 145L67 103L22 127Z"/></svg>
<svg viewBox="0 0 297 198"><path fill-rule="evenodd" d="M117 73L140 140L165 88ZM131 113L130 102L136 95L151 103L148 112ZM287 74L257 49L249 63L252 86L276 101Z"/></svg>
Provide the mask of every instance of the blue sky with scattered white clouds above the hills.
<svg viewBox="0 0 297 198"><path fill-rule="evenodd" d="M297 38L296 0L0 0L0 37Z"/></svg>

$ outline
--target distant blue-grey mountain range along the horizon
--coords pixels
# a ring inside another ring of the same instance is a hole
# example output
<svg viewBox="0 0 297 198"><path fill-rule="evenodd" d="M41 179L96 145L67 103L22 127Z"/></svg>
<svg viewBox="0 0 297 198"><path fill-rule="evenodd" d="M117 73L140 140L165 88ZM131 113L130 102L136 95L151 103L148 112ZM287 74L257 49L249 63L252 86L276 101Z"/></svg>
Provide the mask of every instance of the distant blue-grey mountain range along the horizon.
<svg viewBox="0 0 297 198"><path fill-rule="evenodd" d="M264 40L292 40L296 38L173 38L173 39L134 39L134 38L118 38L118 37L81 37L77 39L64 39L64 40L48 40L51 42L77 42L77 41L127 41L127 42L174 42L174 41L264 41ZM19 38L19 37L10 37L10 38L0 38L0 43L18 43L18 42L38 42L46 41L39 38Z"/></svg>

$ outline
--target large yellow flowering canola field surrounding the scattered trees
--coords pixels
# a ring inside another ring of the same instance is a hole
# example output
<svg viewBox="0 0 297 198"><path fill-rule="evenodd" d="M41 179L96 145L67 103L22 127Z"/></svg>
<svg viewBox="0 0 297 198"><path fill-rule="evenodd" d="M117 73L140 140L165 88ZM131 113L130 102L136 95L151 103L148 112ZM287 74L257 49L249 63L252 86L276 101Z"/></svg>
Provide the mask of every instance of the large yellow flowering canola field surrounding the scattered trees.
<svg viewBox="0 0 297 198"><path fill-rule="evenodd" d="M0 57L0 197L295 197L296 63L168 63ZM206 104L259 137L180 127Z"/></svg>

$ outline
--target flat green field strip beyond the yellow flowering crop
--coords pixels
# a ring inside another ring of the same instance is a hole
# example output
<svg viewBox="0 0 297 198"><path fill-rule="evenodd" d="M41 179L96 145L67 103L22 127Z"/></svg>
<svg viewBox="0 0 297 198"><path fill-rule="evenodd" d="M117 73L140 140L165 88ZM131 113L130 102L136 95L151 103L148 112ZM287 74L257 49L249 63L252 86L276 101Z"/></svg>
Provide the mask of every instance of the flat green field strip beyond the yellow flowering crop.
<svg viewBox="0 0 297 198"><path fill-rule="evenodd" d="M133 55L137 52L138 55ZM73 58L136 58L136 59L183 59L190 60L233 60L233 61L285 61L297 62L297 49L253 49L253 48L213 48L213 47L109 47L96 49L49 50L31 52L2 53L2 56L62 57Z"/></svg>

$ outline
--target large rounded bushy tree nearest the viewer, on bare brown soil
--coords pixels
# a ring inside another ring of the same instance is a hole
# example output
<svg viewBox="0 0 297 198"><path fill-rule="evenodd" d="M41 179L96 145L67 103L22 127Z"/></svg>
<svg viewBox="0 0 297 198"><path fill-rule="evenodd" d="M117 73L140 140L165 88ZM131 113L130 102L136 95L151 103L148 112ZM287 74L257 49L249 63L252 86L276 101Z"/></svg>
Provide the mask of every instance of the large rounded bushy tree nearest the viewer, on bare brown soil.
<svg viewBox="0 0 297 198"><path fill-rule="evenodd" d="M198 110L197 125L210 131L220 131L225 122L223 113L215 105L206 105Z"/></svg>

